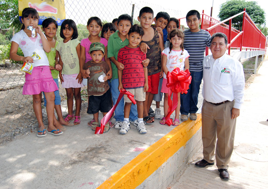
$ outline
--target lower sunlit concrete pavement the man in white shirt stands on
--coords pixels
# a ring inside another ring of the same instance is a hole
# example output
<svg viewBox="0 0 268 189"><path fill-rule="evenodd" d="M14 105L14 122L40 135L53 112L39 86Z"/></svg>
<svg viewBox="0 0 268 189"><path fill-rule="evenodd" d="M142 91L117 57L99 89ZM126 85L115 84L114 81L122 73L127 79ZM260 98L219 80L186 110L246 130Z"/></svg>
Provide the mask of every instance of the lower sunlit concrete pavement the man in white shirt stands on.
<svg viewBox="0 0 268 189"><path fill-rule="evenodd" d="M189 161L172 189L267 189L268 188L268 59L245 90L245 102L237 118L230 180L222 181L217 167L198 168L202 149Z"/></svg>

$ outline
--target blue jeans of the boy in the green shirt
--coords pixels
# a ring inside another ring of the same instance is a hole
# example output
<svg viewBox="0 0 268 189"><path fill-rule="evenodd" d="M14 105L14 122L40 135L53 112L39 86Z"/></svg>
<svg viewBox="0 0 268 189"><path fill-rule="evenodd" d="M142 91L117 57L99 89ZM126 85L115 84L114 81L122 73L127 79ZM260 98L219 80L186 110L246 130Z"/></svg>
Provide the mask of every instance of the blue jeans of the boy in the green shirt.
<svg viewBox="0 0 268 189"><path fill-rule="evenodd" d="M111 84L112 84L112 99L115 106L117 98L120 94L120 92L118 91L118 85L119 85L118 79L111 80ZM115 116L114 116L115 121L124 121L124 105L125 102L124 98L122 97L115 109ZM138 119L137 105L132 104L130 109L129 120L134 121L137 119Z"/></svg>

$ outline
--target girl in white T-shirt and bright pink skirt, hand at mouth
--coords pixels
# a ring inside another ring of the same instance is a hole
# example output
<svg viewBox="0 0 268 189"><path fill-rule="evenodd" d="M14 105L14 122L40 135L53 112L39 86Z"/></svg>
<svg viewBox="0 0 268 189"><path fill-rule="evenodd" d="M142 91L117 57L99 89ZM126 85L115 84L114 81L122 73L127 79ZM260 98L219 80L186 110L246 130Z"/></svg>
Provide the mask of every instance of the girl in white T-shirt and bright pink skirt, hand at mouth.
<svg viewBox="0 0 268 189"><path fill-rule="evenodd" d="M41 27L38 26L38 12L33 8L25 8L22 11L21 22L23 23L21 30L11 39L10 58L16 61L33 62L34 69L32 74L26 73L25 83L23 85L23 95L33 95L33 107L38 120L38 137L46 136L46 133L60 135L61 132L57 128L62 126L54 118L54 91L58 90L57 84L53 80L49 69L49 62L45 52L50 52L50 44L45 35L42 33ZM34 28L33 30L28 26ZM18 48L24 54L24 57L17 55ZM45 52L44 52L45 51ZM39 59L34 60L32 55L37 54ZM44 92L47 99L47 117L48 128L42 121L41 101Z"/></svg>

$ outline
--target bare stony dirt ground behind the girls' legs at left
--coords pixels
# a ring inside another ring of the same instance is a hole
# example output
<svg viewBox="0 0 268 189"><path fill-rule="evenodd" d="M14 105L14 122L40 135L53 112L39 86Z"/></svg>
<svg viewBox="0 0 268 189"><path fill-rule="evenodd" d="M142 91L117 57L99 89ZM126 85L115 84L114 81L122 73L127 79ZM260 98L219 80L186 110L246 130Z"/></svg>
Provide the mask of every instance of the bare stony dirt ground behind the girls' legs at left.
<svg viewBox="0 0 268 189"><path fill-rule="evenodd" d="M29 134L36 131L38 123L33 111L31 95L22 95L25 74L20 71L21 65L0 68L0 145L11 141L19 134ZM61 101L66 112L66 92L59 83ZM83 90L83 95L86 90ZM87 98L83 98L86 100ZM82 101L85 108L87 102ZM47 124L45 107L43 106L43 121Z"/></svg>

